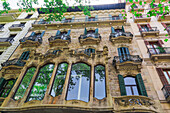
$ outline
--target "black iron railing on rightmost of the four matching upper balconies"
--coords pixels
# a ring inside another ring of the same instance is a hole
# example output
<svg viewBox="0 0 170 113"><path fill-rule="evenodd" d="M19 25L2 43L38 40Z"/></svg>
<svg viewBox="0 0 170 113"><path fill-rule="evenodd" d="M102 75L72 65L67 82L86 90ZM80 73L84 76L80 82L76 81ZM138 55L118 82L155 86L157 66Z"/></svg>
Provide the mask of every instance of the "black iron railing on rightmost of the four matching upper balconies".
<svg viewBox="0 0 170 113"><path fill-rule="evenodd" d="M133 34L131 32L115 32L115 33L110 33L110 39L119 37L119 36L126 36L126 37L133 37Z"/></svg>

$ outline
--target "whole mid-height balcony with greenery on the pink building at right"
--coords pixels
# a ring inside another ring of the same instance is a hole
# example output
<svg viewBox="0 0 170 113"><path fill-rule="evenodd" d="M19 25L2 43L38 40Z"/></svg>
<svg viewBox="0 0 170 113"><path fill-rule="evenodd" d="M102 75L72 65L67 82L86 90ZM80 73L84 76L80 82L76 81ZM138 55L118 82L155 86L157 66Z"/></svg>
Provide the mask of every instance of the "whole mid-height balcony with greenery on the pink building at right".
<svg viewBox="0 0 170 113"><path fill-rule="evenodd" d="M150 58L154 61L158 59L169 59L170 58L170 47L158 47L148 49Z"/></svg>

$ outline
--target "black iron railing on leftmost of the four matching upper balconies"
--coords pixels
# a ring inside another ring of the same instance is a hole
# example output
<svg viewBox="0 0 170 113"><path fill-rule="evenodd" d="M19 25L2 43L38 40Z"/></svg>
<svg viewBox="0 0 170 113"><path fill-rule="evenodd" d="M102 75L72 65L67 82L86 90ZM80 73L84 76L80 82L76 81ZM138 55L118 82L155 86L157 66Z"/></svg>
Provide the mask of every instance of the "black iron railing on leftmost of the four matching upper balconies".
<svg viewBox="0 0 170 113"><path fill-rule="evenodd" d="M42 43L42 37L41 36L29 36L29 37L24 37L23 39L20 39L20 42L25 42L27 40L31 40L31 41L37 41L39 43Z"/></svg>

